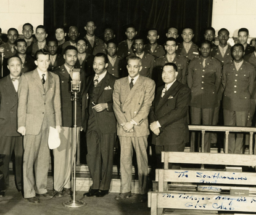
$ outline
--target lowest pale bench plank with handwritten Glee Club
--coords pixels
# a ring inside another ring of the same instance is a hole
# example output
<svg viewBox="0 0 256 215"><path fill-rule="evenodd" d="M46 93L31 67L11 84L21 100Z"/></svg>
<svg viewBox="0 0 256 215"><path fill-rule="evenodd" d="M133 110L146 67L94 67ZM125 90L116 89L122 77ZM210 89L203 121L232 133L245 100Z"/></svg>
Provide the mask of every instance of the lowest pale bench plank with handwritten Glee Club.
<svg viewBox="0 0 256 215"><path fill-rule="evenodd" d="M152 192L154 193L154 192ZM209 211L256 211L256 197L236 197L194 192L155 192L157 208L199 209Z"/></svg>

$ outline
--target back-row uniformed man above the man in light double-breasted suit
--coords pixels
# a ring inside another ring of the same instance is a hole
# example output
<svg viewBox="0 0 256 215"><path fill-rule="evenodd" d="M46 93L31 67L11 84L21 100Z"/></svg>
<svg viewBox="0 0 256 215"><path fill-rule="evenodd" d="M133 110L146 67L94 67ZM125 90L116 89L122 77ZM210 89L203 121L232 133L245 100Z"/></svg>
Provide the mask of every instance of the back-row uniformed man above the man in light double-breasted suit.
<svg viewBox="0 0 256 215"><path fill-rule="evenodd" d="M134 37L137 35L137 31L134 25L127 25L125 35L127 39L118 44L117 55L126 58L128 55L134 53Z"/></svg>

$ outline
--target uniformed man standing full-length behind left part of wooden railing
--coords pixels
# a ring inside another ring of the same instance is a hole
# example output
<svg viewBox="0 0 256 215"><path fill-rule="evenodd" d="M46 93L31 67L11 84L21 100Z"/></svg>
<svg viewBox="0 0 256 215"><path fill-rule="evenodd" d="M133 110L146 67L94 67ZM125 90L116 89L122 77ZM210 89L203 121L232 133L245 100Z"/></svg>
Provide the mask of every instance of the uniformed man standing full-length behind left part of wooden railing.
<svg viewBox="0 0 256 215"><path fill-rule="evenodd" d="M191 88L191 124L212 125L214 109L218 106L221 85L221 64L210 57L212 42L204 41L199 48L200 57L191 60L188 67L188 87ZM202 123L201 123L202 121ZM210 152L211 134L205 134L204 152ZM191 136L191 151L195 133Z"/></svg>

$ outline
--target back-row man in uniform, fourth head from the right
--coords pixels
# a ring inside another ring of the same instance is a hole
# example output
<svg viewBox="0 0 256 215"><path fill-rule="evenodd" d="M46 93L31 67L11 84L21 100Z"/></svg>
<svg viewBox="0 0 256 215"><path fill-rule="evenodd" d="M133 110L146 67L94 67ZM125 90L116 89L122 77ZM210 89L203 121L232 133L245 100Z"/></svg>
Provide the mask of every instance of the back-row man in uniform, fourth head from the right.
<svg viewBox="0 0 256 215"><path fill-rule="evenodd" d="M193 30L191 28L184 28L181 34L183 42L178 46L177 54L186 57L189 60L199 56L198 47L192 42L194 37Z"/></svg>

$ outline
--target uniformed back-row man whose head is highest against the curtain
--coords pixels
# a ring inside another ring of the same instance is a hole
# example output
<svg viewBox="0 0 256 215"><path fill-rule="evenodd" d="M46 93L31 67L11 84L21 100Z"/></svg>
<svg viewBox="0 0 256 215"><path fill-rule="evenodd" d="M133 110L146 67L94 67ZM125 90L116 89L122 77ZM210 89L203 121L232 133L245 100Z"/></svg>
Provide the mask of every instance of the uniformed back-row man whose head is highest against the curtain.
<svg viewBox="0 0 256 215"><path fill-rule="evenodd" d="M99 44L103 44L102 39L96 37L94 31L96 30L95 23L93 21L88 21L85 26L86 36L84 37L87 41L88 48L86 49L86 53L92 55L93 49Z"/></svg>

